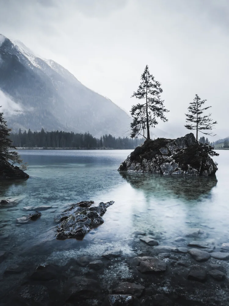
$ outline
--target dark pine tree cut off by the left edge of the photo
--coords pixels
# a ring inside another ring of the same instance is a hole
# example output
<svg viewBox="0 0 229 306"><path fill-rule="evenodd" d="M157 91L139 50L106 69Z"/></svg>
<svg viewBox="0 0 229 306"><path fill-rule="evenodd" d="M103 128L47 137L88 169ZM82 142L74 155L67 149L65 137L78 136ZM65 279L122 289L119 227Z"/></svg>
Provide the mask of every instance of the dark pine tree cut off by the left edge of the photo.
<svg viewBox="0 0 229 306"><path fill-rule="evenodd" d="M16 149L12 146L12 141L9 139L10 131L11 129L7 128L6 121L3 118L3 113L0 113L0 159L5 161L18 159L19 161L18 153L15 151L9 151Z"/></svg>

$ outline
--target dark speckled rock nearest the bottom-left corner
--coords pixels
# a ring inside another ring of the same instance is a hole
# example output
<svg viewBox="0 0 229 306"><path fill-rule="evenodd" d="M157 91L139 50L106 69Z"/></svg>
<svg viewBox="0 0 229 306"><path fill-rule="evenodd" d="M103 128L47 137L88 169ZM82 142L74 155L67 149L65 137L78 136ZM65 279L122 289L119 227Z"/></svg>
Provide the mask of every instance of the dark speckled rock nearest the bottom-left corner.
<svg viewBox="0 0 229 306"><path fill-rule="evenodd" d="M24 299L25 305L48 306L49 304L48 289L43 285L28 285L19 295Z"/></svg>

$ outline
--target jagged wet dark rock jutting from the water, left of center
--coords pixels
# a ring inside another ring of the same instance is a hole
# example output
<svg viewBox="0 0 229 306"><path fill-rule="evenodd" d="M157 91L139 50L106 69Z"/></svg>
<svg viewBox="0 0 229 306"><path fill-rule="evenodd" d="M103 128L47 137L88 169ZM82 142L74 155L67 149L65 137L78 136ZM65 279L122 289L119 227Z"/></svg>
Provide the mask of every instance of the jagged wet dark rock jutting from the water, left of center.
<svg viewBox="0 0 229 306"><path fill-rule="evenodd" d="M100 202L98 206L91 207L93 203L93 201L82 201L71 204L56 217L55 220L61 222L56 228L56 239L84 237L92 228L104 223L101 216L114 201Z"/></svg>

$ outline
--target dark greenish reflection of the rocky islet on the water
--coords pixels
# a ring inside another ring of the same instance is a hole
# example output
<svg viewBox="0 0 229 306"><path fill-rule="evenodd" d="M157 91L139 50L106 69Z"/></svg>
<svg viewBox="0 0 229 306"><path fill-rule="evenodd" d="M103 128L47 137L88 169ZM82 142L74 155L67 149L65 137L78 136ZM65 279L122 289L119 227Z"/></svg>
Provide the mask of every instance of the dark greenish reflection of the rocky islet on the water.
<svg viewBox="0 0 229 306"><path fill-rule="evenodd" d="M157 174L120 172L120 175L135 189L163 200L168 197L184 200L211 198L217 184L216 177L165 177Z"/></svg>

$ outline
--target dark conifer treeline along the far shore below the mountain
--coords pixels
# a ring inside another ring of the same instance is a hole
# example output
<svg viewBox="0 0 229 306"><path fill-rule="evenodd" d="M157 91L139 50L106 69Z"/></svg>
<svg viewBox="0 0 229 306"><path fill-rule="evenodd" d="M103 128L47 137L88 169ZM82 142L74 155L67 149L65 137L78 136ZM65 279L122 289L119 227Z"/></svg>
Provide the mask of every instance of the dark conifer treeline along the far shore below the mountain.
<svg viewBox="0 0 229 306"><path fill-rule="evenodd" d="M115 138L111 134L101 136L100 139L88 133L74 133L63 131L45 132L42 128L40 132L11 133L10 139L15 147L44 147L44 148L113 148L113 149L134 149L144 143L143 139L130 139L128 137Z"/></svg>

